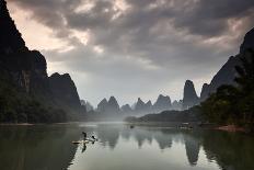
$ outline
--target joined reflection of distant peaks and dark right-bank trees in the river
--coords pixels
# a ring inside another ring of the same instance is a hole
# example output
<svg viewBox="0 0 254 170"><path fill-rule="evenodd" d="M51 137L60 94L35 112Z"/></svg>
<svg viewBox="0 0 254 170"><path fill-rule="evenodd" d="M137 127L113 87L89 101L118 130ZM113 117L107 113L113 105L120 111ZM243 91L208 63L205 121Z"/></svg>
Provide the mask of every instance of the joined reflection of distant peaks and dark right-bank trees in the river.
<svg viewBox="0 0 254 170"><path fill-rule="evenodd" d="M99 138L114 149L119 138L129 140L134 138L138 148L142 145L157 141L163 151L170 149L175 143L185 146L186 158L189 166L198 162L200 148L209 162L217 162L220 169L254 169L254 138L243 134L230 134L217 131L178 131L174 128L127 126L97 126ZM105 132L105 133L101 133ZM107 137L105 137L107 136Z"/></svg>

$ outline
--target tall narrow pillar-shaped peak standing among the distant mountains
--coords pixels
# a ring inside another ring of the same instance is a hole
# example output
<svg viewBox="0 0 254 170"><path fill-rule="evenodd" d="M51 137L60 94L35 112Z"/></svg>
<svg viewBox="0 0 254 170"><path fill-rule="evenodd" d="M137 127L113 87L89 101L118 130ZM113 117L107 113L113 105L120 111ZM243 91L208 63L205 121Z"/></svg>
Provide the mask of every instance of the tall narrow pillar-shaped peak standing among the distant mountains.
<svg viewBox="0 0 254 170"><path fill-rule="evenodd" d="M183 99L183 109L189 109L198 104L199 98L197 97L194 83L190 80L187 80L184 86L184 99Z"/></svg>

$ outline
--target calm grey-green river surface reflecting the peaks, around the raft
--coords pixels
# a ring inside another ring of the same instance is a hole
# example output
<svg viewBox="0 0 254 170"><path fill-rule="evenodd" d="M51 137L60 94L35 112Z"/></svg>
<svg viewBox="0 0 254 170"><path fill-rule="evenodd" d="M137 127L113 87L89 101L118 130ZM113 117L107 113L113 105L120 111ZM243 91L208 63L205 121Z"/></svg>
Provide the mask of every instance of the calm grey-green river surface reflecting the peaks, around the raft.
<svg viewBox="0 0 254 170"><path fill-rule="evenodd" d="M95 144L73 145L81 132ZM254 137L120 124L0 126L1 170L253 170Z"/></svg>

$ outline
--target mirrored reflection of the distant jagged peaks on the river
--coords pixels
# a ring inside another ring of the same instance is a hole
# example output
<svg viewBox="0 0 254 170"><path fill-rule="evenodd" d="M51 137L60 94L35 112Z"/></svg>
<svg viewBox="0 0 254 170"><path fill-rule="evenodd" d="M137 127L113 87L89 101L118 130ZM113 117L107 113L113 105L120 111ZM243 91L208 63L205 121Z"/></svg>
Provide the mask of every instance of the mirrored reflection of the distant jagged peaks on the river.
<svg viewBox="0 0 254 170"><path fill-rule="evenodd" d="M200 139L198 134L189 134L188 131L178 131L171 128L154 128L154 127L138 127L129 129L128 126L97 126L97 137L102 140L104 146L108 143L108 146L114 149L117 145L119 137L129 139L134 137L138 148L141 149L145 141L151 144L154 139L159 148L164 150L171 148L173 140L175 143L182 143L185 145L187 160L190 166L195 166L198 161L198 152L200 149Z"/></svg>

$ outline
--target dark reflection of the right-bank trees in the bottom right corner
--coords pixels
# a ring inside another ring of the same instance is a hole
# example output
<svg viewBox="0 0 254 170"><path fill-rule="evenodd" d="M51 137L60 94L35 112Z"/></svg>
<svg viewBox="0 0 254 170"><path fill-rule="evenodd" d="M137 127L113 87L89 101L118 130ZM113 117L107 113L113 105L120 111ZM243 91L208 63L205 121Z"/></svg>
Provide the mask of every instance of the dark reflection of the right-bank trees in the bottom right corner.
<svg viewBox="0 0 254 170"><path fill-rule="evenodd" d="M216 160L221 169L254 169L254 137L244 134L203 133L203 146L210 161Z"/></svg>

